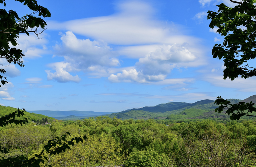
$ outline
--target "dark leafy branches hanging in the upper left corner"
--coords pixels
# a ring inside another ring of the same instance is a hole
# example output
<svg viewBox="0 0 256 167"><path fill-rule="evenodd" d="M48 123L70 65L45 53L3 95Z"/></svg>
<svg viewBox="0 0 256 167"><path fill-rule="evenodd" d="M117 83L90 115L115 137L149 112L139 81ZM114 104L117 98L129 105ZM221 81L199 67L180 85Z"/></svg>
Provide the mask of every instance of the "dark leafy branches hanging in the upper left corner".
<svg viewBox="0 0 256 167"><path fill-rule="evenodd" d="M36 0L15 0L23 5L28 6L33 12L27 14L26 16L18 16L18 14L9 10L0 9L0 58L5 58L8 63L18 64L24 67L21 58L25 56L22 50L11 48L10 44L13 46L18 45L17 38L21 33L29 35L29 33L40 34L45 30L46 22L41 17L50 17L51 14L48 9L37 4ZM6 5L5 0L0 0L0 3L4 6ZM42 28L38 32L38 28ZM3 76L6 71L0 69L0 80L1 84L8 83L6 77ZM0 85L1 87L1 85Z"/></svg>

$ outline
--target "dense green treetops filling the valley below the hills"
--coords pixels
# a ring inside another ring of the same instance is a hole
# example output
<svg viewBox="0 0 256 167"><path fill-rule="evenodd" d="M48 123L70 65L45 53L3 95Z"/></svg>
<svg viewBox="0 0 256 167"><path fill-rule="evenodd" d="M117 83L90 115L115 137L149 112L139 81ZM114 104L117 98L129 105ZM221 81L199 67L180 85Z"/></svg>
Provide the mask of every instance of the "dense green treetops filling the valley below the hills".
<svg viewBox="0 0 256 167"><path fill-rule="evenodd" d="M183 113L189 115L192 111L194 109ZM2 153L0 157L8 159L22 155L26 159L33 158L34 154L41 153L49 140L69 131L71 136L66 136L66 141L71 138L76 141L75 137L81 135L88 139L73 142L65 152L45 153L47 160L44 164L54 167L121 164L126 167L255 166L256 122L253 120L175 123L168 119L97 117L34 125L3 127L0 144L10 148L10 153ZM42 162L40 164L43 166Z"/></svg>

